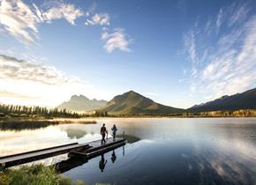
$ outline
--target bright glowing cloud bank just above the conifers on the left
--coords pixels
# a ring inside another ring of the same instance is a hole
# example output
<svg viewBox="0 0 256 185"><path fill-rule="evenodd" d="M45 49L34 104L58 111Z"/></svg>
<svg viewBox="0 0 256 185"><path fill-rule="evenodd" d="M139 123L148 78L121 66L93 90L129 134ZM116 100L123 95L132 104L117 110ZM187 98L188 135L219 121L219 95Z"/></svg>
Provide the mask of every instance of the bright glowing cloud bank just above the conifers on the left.
<svg viewBox="0 0 256 185"><path fill-rule="evenodd" d="M53 66L0 55L3 103L56 106L73 94L94 93L94 86Z"/></svg>

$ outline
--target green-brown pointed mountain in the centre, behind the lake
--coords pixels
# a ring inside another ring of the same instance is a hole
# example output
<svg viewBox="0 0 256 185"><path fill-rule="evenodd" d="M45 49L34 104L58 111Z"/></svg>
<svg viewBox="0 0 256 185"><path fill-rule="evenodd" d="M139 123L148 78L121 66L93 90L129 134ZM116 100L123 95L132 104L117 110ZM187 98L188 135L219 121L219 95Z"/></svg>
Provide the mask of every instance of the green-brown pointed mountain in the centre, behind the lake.
<svg viewBox="0 0 256 185"><path fill-rule="evenodd" d="M133 91L115 96L100 110L112 115L161 115L184 112L184 109L163 106Z"/></svg>

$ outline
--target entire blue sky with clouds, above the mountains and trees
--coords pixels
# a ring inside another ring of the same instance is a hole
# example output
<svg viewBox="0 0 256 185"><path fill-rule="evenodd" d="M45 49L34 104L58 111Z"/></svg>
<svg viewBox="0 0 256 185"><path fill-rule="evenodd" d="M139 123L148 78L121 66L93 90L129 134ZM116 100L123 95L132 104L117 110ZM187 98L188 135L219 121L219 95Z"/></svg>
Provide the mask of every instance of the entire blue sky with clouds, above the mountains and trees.
<svg viewBox="0 0 256 185"><path fill-rule="evenodd" d="M0 2L0 102L134 90L192 107L256 86L253 1Z"/></svg>

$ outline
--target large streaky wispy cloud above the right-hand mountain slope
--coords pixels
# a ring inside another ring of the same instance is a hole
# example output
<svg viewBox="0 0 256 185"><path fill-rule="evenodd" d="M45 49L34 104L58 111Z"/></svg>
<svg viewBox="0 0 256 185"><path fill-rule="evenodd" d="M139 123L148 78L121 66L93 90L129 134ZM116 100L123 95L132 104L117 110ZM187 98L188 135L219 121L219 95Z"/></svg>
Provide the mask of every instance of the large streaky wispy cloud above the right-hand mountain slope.
<svg viewBox="0 0 256 185"><path fill-rule="evenodd" d="M256 85L256 15L251 7L222 7L202 29L193 26L184 35L192 94L215 99Z"/></svg>

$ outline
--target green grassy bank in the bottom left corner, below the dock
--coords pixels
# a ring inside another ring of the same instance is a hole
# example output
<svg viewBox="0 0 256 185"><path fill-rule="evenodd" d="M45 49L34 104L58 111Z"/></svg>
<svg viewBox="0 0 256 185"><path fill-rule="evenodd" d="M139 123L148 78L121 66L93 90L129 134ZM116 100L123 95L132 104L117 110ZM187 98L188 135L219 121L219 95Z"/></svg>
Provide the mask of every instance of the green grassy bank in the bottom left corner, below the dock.
<svg viewBox="0 0 256 185"><path fill-rule="evenodd" d="M83 181L72 181L56 173L53 167L34 165L19 169L0 171L1 185L84 185Z"/></svg>

